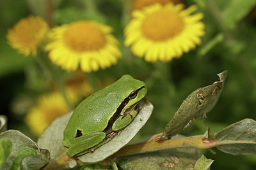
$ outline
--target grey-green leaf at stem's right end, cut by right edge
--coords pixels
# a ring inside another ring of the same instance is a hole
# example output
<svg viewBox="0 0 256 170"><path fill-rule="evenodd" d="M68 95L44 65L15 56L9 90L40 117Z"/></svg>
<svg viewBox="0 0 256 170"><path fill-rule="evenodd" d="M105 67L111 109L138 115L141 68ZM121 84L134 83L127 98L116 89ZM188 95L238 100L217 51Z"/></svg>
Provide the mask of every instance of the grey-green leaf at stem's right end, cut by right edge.
<svg viewBox="0 0 256 170"><path fill-rule="evenodd" d="M215 140L223 143L217 148L222 152L238 154L256 153L256 121L246 118L229 125L215 135Z"/></svg>

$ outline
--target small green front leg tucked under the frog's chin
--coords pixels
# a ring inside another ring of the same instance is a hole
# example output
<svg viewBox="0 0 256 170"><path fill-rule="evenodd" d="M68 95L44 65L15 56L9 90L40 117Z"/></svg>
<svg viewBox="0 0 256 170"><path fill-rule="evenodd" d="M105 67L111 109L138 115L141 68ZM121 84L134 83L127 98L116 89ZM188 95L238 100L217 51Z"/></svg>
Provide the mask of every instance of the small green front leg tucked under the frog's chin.
<svg viewBox="0 0 256 170"><path fill-rule="evenodd" d="M118 119L116 119L116 121L112 125L112 130L119 131L120 129L123 129L125 126L129 125L132 121L132 118L134 118L137 115L137 113L137 110L132 110L125 117L119 117Z"/></svg>

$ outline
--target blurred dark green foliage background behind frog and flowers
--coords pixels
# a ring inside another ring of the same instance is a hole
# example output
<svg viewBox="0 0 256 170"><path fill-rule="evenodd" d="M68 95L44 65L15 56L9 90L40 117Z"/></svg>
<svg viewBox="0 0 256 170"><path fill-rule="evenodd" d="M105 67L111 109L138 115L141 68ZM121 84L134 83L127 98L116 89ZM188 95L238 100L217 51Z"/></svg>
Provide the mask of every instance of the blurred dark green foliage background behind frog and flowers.
<svg viewBox="0 0 256 170"><path fill-rule="evenodd" d="M92 10L86 0L53 2L56 4L52 13L54 25L97 20L113 27L113 34L120 41L122 59L115 66L86 76L111 82L123 74L131 74L147 83L147 99L154 104L154 112L136 139L163 132L182 101L193 90L218 81L216 74L226 69L228 78L214 109L204 121L195 120L182 134L203 134L207 127L211 127L211 132L218 132L243 118L256 120L255 0L184 1L187 6L198 4L197 12L204 13L205 36L202 45L195 50L166 63L148 63L134 57L124 46L123 30L129 22L131 1L94 1L97 10ZM44 72L35 57L24 57L13 50L7 43L6 34L9 28L30 14L45 18L42 4L43 0L0 1L0 114L8 117L8 129L22 131L35 140L24 117L35 105L36 97L52 90L49 88L51 76ZM61 73L66 79L73 76L73 73ZM214 160L212 169L256 169L256 155L234 156L213 150L216 155L202 150L207 159Z"/></svg>

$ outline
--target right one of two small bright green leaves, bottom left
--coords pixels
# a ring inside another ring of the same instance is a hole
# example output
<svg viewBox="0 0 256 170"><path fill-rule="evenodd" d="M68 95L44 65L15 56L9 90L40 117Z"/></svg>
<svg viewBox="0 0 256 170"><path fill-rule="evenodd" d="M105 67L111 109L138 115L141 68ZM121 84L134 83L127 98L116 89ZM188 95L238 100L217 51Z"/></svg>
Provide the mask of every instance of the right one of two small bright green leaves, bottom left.
<svg viewBox="0 0 256 170"><path fill-rule="evenodd" d="M15 159L12 162L12 166L10 168L10 170L19 170L21 167L21 162L24 158L28 157L29 155L36 155L36 151L31 149L31 148L21 148L18 153L17 156L15 157Z"/></svg>

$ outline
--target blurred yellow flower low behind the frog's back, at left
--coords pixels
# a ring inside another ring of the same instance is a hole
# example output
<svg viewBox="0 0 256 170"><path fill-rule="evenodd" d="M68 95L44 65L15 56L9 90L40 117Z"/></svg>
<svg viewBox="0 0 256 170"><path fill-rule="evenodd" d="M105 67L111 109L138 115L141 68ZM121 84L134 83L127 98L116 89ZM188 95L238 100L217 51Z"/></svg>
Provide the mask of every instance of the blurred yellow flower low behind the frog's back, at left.
<svg viewBox="0 0 256 170"><path fill-rule="evenodd" d="M76 101L74 94L69 94L70 101ZM36 106L33 106L26 115L25 122L36 136L40 136L55 118L70 111L65 100L58 92L38 97Z"/></svg>

